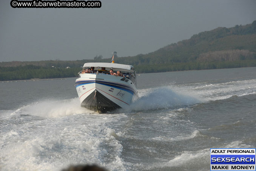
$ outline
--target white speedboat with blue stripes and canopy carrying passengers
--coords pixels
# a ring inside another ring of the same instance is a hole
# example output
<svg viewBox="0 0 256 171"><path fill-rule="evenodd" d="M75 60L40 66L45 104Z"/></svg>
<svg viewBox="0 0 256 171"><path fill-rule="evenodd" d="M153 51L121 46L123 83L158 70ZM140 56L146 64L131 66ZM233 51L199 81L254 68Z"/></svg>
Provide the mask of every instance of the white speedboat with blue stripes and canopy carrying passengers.
<svg viewBox="0 0 256 171"><path fill-rule="evenodd" d="M129 107L137 99L136 71L133 66L85 63L85 69L86 72L79 72L75 84L81 107L98 113L111 113L118 108Z"/></svg>

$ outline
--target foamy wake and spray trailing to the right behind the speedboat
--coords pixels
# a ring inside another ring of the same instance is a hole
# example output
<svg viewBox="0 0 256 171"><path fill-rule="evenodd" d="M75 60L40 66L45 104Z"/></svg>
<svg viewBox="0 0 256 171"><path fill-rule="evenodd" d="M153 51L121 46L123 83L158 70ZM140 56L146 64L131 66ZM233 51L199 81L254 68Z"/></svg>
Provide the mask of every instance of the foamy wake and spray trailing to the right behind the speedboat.
<svg viewBox="0 0 256 171"><path fill-rule="evenodd" d="M187 107L202 102L210 102L256 94L256 79L229 81L217 84L184 84L139 90L139 99L131 104L135 111L159 110Z"/></svg>

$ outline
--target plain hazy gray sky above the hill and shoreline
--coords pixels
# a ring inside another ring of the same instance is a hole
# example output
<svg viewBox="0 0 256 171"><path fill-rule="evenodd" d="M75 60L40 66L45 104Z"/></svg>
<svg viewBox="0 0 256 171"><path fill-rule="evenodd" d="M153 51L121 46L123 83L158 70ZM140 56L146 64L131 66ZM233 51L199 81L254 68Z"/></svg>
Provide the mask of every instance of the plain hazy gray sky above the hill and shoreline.
<svg viewBox="0 0 256 171"><path fill-rule="evenodd" d="M12 8L0 0L0 62L150 53L256 20L255 0L101 0L101 8Z"/></svg>

